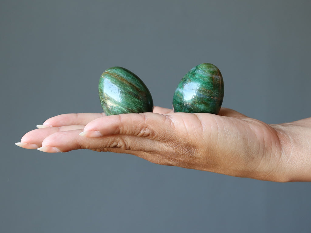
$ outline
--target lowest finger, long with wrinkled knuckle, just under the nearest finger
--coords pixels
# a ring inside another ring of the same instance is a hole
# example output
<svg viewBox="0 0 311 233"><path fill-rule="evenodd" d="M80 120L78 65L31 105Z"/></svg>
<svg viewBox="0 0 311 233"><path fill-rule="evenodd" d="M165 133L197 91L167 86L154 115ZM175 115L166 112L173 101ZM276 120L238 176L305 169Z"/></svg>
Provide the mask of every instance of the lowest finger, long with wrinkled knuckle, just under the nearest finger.
<svg viewBox="0 0 311 233"><path fill-rule="evenodd" d="M159 142L151 139L128 135L112 135L100 138L87 138L79 136L82 130L56 132L46 137L40 150L44 152L68 152L76 149L92 149L108 151L116 149L118 153L129 151L143 151L151 153L154 148L164 149Z"/></svg>

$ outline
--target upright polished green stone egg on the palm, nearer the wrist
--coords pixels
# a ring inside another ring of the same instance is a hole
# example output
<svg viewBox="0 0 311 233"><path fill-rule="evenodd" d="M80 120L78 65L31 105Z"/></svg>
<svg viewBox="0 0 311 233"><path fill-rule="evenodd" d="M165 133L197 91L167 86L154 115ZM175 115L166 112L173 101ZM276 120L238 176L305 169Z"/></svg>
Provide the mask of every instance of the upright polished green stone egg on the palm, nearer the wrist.
<svg viewBox="0 0 311 233"><path fill-rule="evenodd" d="M224 80L211 63L192 68L178 84L174 97L174 112L205 112L218 114L224 98Z"/></svg>

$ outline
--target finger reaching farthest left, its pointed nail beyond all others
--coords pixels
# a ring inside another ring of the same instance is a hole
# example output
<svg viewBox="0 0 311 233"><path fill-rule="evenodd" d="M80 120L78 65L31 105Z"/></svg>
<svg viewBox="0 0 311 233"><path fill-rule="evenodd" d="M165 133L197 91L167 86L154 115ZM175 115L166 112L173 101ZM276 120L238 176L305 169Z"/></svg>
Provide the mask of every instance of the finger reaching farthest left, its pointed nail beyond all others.
<svg viewBox="0 0 311 233"><path fill-rule="evenodd" d="M59 131L77 130L83 129L83 125L75 126L62 126L62 127L48 127L44 129L35 129L26 133L22 138L21 142L16 145L26 149L37 149L41 147L42 141L51 134Z"/></svg>

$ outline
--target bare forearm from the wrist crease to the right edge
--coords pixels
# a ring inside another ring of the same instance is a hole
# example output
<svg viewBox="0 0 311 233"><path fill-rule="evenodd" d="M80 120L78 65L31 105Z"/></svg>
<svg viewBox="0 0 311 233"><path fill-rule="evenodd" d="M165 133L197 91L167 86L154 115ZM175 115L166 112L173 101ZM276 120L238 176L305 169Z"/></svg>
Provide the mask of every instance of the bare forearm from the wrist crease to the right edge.
<svg viewBox="0 0 311 233"><path fill-rule="evenodd" d="M311 181L311 117L273 127L282 146L285 181Z"/></svg>

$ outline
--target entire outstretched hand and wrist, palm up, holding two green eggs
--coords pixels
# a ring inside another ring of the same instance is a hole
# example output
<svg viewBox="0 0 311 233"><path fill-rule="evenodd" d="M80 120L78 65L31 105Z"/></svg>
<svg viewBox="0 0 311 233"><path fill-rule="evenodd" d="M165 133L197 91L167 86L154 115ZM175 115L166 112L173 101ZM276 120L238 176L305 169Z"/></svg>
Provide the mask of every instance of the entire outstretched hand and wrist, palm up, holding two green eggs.
<svg viewBox="0 0 311 233"><path fill-rule="evenodd" d="M18 146L44 152L91 149L150 162L277 182L311 181L311 118L268 125L228 108L219 115L154 112L63 114Z"/></svg>

